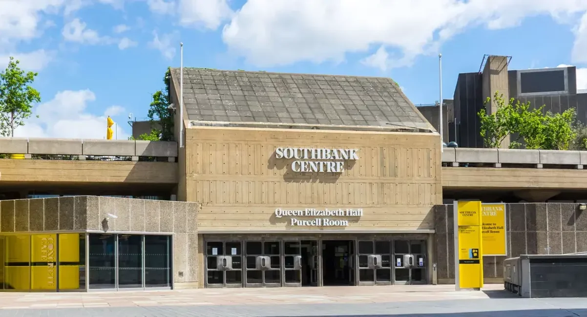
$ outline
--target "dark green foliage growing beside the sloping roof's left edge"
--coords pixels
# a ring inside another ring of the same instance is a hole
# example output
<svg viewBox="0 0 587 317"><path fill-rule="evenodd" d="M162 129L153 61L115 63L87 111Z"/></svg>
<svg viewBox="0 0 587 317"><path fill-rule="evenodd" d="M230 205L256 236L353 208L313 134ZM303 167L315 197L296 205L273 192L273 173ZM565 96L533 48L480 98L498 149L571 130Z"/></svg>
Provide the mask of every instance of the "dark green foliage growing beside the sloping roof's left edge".
<svg viewBox="0 0 587 317"><path fill-rule="evenodd" d="M171 69L167 68L165 76L163 77L163 83L165 84L164 90L157 90L153 94L153 101L149 106L149 113L147 117L151 121L151 133L149 135L161 135L161 141L173 141L173 112L170 111L169 105L171 104L169 97L169 88L171 81ZM160 126L160 129L155 128L156 124Z"/></svg>

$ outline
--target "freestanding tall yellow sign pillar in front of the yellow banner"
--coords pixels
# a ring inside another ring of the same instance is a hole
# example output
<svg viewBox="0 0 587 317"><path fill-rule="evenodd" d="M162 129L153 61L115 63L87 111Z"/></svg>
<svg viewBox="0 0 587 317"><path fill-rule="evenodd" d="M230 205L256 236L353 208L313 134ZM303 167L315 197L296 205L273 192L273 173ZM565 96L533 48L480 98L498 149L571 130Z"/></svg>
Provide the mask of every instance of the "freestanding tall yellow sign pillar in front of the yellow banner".
<svg viewBox="0 0 587 317"><path fill-rule="evenodd" d="M481 202L454 202L455 288L483 287Z"/></svg>

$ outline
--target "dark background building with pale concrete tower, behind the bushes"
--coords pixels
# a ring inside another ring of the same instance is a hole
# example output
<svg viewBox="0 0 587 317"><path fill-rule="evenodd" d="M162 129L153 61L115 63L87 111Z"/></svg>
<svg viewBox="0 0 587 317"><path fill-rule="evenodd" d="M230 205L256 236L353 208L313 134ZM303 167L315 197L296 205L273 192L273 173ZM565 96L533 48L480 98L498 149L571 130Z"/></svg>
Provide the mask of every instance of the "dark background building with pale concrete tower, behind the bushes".
<svg viewBox="0 0 587 317"><path fill-rule="evenodd" d="M487 97L493 97L496 91L505 100L529 101L532 108L545 105L545 113L563 113L575 108L577 120L587 123L587 93L577 90L575 66L508 70L510 60L508 56L485 56L482 71L458 74L453 96L454 117L447 111L447 124L451 121L456 124L456 141L460 147L484 147L477 113L482 109L490 114L497 110L494 103L485 104ZM507 138L501 146L507 148L509 144Z"/></svg>

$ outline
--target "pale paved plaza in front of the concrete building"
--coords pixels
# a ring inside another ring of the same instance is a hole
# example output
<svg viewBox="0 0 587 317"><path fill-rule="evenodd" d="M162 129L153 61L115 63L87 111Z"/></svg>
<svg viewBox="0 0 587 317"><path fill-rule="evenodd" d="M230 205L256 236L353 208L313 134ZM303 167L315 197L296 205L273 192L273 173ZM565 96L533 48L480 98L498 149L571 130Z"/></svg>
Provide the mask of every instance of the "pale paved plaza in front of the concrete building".
<svg viewBox="0 0 587 317"><path fill-rule="evenodd" d="M190 289L90 293L0 293L0 316L107 317L576 317L586 299L527 299L490 285Z"/></svg>

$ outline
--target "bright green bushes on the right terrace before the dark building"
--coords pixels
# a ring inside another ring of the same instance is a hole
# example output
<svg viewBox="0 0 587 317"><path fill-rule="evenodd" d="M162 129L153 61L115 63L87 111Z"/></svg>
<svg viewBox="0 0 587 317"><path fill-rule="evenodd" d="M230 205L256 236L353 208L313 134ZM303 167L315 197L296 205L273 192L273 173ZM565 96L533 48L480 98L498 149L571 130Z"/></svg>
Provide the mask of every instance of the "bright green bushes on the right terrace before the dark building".
<svg viewBox="0 0 587 317"><path fill-rule="evenodd" d="M481 136L489 148L499 148L508 135L512 137L510 148L566 150L576 143L573 141L577 135L573 108L562 114L544 113L544 105L532 109L529 101L520 103L514 98L506 103L498 92L493 100L487 98L485 103L491 101L497 108L495 113L487 114L485 109L478 113Z"/></svg>

